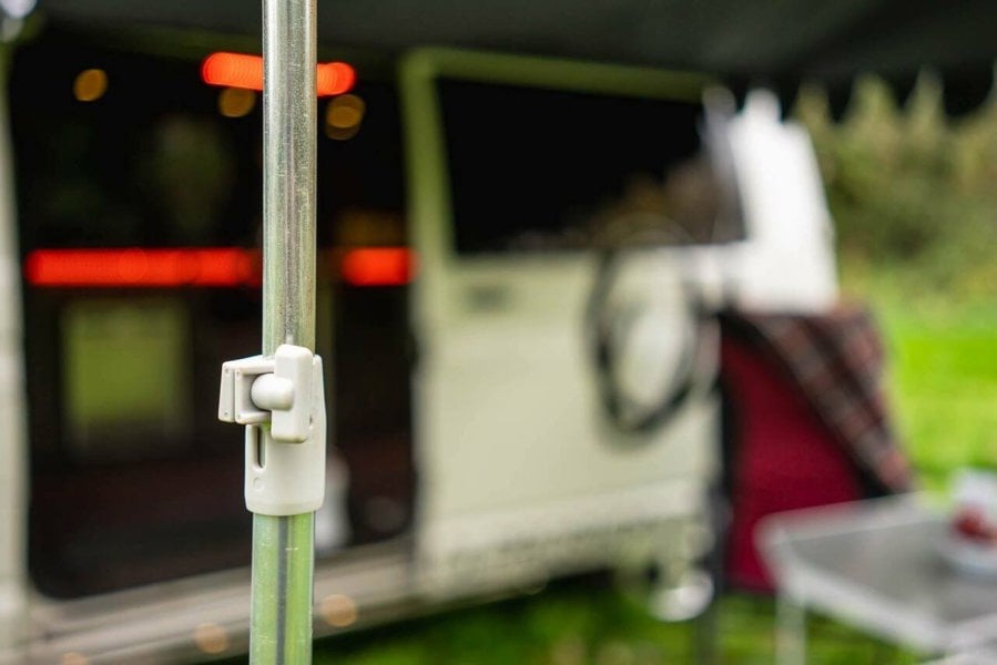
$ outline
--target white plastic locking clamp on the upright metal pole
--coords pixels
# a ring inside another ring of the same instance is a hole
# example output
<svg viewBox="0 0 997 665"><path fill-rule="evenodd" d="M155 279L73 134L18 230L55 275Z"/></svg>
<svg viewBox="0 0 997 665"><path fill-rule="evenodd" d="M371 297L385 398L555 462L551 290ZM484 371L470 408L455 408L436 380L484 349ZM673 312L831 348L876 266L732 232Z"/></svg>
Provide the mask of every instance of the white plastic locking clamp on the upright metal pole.
<svg viewBox="0 0 997 665"><path fill-rule="evenodd" d="M325 497L325 391L322 358L281 345L273 357L222 365L218 419L246 426L246 508L293 515Z"/></svg>

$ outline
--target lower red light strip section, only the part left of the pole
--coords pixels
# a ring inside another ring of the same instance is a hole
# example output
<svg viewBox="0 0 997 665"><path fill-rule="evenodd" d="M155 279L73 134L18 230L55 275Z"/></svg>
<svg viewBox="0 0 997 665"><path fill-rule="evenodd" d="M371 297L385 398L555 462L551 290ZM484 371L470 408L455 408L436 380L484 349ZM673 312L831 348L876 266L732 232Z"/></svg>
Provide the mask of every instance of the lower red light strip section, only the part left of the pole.
<svg viewBox="0 0 997 665"><path fill-rule="evenodd" d="M261 283L260 252L240 247L37 249L24 259L32 286L233 287Z"/></svg>

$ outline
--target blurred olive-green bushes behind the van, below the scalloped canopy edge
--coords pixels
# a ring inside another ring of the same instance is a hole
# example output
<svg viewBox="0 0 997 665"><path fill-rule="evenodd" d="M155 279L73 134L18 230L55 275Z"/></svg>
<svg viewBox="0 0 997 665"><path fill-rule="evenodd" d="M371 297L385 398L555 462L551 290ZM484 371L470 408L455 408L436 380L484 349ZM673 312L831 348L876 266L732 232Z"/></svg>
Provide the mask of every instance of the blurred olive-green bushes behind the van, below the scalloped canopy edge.
<svg viewBox="0 0 997 665"><path fill-rule="evenodd" d="M896 267L913 290L975 297L997 290L997 103L948 119L938 82L922 76L903 108L861 80L841 123L820 91L796 114L810 129L848 265Z"/></svg>

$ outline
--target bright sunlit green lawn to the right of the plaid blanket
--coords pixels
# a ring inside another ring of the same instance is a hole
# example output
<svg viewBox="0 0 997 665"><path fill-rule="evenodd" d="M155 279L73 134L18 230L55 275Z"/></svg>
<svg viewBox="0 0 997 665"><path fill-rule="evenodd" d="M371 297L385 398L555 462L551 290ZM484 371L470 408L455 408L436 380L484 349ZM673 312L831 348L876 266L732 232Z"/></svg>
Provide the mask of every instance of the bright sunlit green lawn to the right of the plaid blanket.
<svg viewBox="0 0 997 665"><path fill-rule="evenodd" d="M997 470L997 301L949 299L894 279L850 288L883 331L897 433L923 487L944 492L959 469Z"/></svg>

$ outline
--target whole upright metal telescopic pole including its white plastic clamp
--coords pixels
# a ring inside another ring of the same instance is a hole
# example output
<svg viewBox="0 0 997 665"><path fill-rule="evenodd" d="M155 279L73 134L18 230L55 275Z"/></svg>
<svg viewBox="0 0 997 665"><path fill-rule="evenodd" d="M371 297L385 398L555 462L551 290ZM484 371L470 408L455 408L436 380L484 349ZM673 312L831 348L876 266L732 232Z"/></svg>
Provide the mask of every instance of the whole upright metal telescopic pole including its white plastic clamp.
<svg viewBox="0 0 997 665"><path fill-rule="evenodd" d="M222 368L218 415L246 424L250 662L312 661L314 511L325 491L315 349L316 0L263 0L263 354Z"/></svg>

